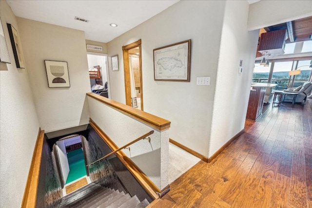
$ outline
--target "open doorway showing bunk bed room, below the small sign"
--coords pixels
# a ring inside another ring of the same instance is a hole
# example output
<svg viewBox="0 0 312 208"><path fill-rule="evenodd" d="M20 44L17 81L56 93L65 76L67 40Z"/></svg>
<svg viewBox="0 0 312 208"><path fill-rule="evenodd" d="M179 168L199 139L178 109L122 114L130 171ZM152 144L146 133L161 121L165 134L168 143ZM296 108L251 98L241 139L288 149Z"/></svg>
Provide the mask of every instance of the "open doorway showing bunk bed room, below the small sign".
<svg viewBox="0 0 312 208"><path fill-rule="evenodd" d="M87 59L91 91L110 97L107 55L88 52Z"/></svg>

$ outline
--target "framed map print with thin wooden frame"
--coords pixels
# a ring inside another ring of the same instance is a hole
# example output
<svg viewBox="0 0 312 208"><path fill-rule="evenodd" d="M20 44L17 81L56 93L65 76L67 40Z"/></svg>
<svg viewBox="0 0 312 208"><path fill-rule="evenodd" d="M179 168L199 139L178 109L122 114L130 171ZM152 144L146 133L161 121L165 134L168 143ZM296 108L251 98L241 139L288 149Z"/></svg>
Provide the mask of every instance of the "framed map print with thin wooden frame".
<svg viewBox="0 0 312 208"><path fill-rule="evenodd" d="M191 39L156 48L153 52L155 81L190 81Z"/></svg>

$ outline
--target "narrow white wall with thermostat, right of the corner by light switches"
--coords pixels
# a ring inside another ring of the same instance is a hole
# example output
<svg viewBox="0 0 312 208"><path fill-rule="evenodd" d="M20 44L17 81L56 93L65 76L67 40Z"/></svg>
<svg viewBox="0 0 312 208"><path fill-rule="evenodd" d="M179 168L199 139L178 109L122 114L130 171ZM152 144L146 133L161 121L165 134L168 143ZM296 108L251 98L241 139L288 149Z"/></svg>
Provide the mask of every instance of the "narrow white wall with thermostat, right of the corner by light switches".
<svg viewBox="0 0 312 208"><path fill-rule="evenodd" d="M259 30L247 31L248 9L247 1L226 3L208 157L244 129L259 37Z"/></svg>

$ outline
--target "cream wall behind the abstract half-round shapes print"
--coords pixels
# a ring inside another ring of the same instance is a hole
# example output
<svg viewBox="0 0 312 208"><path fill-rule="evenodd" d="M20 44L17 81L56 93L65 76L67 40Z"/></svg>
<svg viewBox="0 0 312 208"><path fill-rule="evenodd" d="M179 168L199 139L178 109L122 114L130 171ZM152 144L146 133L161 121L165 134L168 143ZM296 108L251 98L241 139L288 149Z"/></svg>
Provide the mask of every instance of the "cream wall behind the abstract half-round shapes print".
<svg viewBox="0 0 312 208"><path fill-rule="evenodd" d="M89 122L91 92L84 32L17 18L39 124L45 132ZM44 60L67 61L70 87L49 88Z"/></svg>

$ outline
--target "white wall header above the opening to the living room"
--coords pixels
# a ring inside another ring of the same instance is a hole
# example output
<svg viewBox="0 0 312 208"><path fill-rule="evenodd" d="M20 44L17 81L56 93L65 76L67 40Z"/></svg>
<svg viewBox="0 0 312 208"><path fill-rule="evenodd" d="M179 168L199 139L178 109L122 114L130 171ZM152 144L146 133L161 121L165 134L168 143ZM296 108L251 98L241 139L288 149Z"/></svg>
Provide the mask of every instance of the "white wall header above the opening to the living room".
<svg viewBox="0 0 312 208"><path fill-rule="evenodd" d="M250 5L248 30L312 16L312 0L261 0Z"/></svg>

